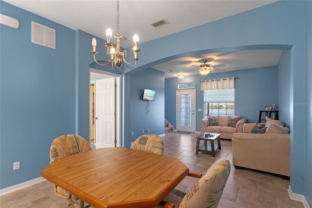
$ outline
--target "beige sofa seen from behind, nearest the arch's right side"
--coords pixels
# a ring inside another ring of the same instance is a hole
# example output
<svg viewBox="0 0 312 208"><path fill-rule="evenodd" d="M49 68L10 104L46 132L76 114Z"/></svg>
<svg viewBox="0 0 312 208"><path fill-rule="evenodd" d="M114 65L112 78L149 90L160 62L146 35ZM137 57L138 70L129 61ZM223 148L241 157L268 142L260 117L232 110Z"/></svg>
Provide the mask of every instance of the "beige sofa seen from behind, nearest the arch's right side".
<svg viewBox="0 0 312 208"><path fill-rule="evenodd" d="M241 169L271 172L290 177L290 133L278 120L268 119L265 133L250 133L255 124L244 124L243 133L232 138L233 165ZM286 176L286 177L284 177Z"/></svg>

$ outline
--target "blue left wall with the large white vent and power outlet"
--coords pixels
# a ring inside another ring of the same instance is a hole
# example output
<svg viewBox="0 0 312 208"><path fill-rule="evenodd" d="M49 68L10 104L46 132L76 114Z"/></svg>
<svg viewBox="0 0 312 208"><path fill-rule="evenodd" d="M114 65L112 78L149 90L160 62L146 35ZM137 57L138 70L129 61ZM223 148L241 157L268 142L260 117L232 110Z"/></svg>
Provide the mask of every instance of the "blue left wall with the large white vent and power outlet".
<svg viewBox="0 0 312 208"><path fill-rule="evenodd" d="M0 188L39 177L54 138L75 133L75 31L0 1L20 27L0 25ZM56 49L31 43L31 21L54 28ZM71 49L71 50L69 50ZM20 169L13 171L13 163Z"/></svg>

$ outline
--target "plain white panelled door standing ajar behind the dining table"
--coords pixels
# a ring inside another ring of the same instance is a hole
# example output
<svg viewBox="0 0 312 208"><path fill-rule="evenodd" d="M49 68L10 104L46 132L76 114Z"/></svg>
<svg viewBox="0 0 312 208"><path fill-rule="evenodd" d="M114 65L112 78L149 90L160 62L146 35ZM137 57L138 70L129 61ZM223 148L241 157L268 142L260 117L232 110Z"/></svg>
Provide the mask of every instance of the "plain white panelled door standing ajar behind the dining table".
<svg viewBox="0 0 312 208"><path fill-rule="evenodd" d="M95 82L95 146L116 146L116 90L115 78Z"/></svg>

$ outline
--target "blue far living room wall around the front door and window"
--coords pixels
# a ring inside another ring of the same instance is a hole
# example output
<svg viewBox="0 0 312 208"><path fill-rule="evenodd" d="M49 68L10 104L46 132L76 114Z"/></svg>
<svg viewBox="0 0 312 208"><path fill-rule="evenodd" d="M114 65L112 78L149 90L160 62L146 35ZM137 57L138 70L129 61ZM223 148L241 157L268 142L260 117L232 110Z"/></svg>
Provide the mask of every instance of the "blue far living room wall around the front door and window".
<svg viewBox="0 0 312 208"><path fill-rule="evenodd" d="M278 109L277 69L276 66L244 69L224 73L211 73L205 76L206 80L238 77L235 80L235 115L247 118L249 123L258 122L259 110L265 105L275 104ZM200 131L200 120L204 118L203 91L200 90L200 81L204 76L190 76L165 79L165 118L176 128L176 90L178 83L195 83L196 89L196 131Z"/></svg>

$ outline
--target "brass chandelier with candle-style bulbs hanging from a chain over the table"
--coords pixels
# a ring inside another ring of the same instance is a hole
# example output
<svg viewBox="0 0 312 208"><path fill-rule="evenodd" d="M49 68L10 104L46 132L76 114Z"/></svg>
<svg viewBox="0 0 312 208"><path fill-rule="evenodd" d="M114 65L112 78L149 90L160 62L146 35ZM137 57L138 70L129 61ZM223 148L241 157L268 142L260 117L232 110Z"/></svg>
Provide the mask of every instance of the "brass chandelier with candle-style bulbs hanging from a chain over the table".
<svg viewBox="0 0 312 208"><path fill-rule="evenodd" d="M119 1L117 0L117 34L114 36L117 39L117 45L116 48L113 46L112 43L110 43L110 38L112 36L112 30L108 29L106 31L106 42L104 43L104 46L107 48L107 56L108 56L108 62L107 63L99 63L96 59L96 54L98 54L98 52L96 51L96 46L97 46L97 40L95 38L92 39L92 46L93 46L93 51L91 51L91 53L93 54L93 58L94 61L96 63L98 63L99 65L107 65L108 63L112 63L112 68L115 69L119 66L121 66L122 62L124 62L125 66L127 66L128 68L132 69L136 66L137 64L137 53L140 52L140 50L137 48L137 43L138 43L138 37L137 35L134 36L134 42L135 42L135 46L133 47L133 53L134 53L134 58L132 59L133 62L127 62L125 60L125 57L127 57L127 51L120 51L120 45L119 45L119 41L120 38L122 37L119 34ZM133 66L130 66L134 64Z"/></svg>

